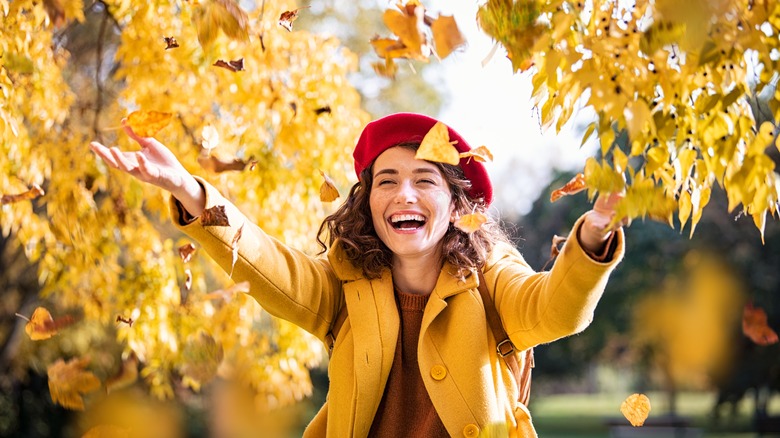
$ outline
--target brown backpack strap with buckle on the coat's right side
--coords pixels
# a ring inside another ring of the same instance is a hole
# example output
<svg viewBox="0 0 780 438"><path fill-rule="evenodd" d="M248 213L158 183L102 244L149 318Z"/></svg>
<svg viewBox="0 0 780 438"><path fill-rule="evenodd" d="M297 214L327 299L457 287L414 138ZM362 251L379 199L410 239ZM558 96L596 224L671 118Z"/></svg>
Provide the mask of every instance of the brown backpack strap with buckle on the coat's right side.
<svg viewBox="0 0 780 438"><path fill-rule="evenodd" d="M515 354L517 349L509 339L509 335L506 334L504 325L501 324L501 317L487 290L485 276L482 274L481 269L478 269L477 273L479 275L479 294L482 296L482 304L485 306L485 318L490 326L490 330L493 332L493 338L496 340L496 352L504 359L512 375L515 376L515 382L519 391L518 401L528 406L528 401L531 397L531 368L534 367L534 351L532 348L525 351L525 362L521 371L517 355Z"/></svg>

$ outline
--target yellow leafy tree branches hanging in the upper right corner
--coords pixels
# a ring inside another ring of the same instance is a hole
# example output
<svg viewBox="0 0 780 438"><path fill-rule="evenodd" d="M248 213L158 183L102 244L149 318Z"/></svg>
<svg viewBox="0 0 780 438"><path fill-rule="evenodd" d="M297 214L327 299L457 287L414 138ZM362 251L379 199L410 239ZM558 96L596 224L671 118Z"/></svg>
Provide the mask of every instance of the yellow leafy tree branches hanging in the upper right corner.
<svg viewBox="0 0 780 438"><path fill-rule="evenodd" d="M693 233L719 185L763 236L778 202L779 14L771 0L488 0L477 19L532 76L544 127L595 110L591 195L625 190L626 215L675 215Z"/></svg>

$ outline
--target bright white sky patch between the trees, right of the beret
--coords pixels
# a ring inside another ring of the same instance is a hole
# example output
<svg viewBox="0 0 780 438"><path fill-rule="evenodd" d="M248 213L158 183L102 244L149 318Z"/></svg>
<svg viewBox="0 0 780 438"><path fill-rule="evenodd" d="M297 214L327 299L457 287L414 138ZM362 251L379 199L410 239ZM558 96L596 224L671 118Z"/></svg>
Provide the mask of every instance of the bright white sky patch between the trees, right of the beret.
<svg viewBox="0 0 780 438"><path fill-rule="evenodd" d="M429 13L454 15L468 41L465 51L444 61L440 78L450 94L438 118L476 147L487 146L494 155L488 171L496 188L496 207L504 214L525 214L550 182L555 168L579 170L592 153L592 143L580 149L585 122L542 133L531 101L529 73L513 74L503 49L483 67L493 41L476 23L476 1L426 2ZM432 61L436 62L436 61ZM439 75L437 75L439 76ZM588 120L583 112L579 120Z"/></svg>

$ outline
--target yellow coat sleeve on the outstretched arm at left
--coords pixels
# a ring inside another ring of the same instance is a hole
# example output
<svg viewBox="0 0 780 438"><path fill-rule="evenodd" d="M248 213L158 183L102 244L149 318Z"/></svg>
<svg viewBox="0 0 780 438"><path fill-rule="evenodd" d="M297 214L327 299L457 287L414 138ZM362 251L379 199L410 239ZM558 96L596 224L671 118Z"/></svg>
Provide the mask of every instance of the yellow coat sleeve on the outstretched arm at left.
<svg viewBox="0 0 780 438"><path fill-rule="evenodd" d="M288 320L324 339L340 306L340 281L327 259L312 257L267 235L219 191L198 178L206 208L224 206L229 226L203 226L187 221L171 197L174 224L196 240L236 282L248 281L249 294L270 314ZM241 230L233 266L233 239Z"/></svg>

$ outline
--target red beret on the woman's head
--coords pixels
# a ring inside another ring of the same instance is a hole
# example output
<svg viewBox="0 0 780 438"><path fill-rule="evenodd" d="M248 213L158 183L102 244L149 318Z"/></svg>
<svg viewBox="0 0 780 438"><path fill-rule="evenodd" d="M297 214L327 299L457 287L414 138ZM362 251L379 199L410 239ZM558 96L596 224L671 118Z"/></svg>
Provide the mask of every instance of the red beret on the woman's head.
<svg viewBox="0 0 780 438"><path fill-rule="evenodd" d="M363 169L370 166L385 150L408 141L422 142L425 134L436 122L436 119L414 113L391 114L370 122L360 134L355 151L352 153L358 178ZM447 129L450 133L450 141L457 140L455 149L459 152L471 150L460 134L449 126ZM459 165L466 178L471 181L469 194L475 199L484 198L485 203L490 205L493 201L493 185L490 183L485 166L474 158L461 158Z"/></svg>

